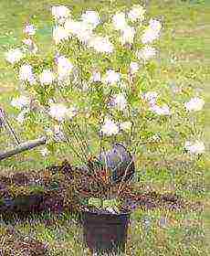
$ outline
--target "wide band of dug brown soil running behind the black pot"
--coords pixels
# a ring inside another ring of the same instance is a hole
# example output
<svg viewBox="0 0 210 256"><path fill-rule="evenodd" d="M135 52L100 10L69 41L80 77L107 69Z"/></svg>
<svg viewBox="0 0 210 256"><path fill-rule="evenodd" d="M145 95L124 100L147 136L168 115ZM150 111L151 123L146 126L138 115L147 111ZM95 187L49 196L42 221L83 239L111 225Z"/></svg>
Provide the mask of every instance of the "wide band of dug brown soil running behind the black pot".
<svg viewBox="0 0 210 256"><path fill-rule="evenodd" d="M14 213L23 216L23 214L47 210L55 213L65 210L73 213L78 209L87 210L87 207L81 204L82 197L83 199L100 197L110 193L111 185L103 181L101 187L101 178L97 175L87 176L85 169L72 167L67 161L62 165L51 166L38 172L28 174L16 172L8 176L0 176L0 214L8 218ZM28 187L36 189L31 190ZM81 197L76 197L73 193L75 187ZM118 188L118 186L114 187L112 193L116 193ZM135 191L137 192L134 192L130 185L122 189L119 195L123 201L120 212L129 212L135 208L180 210L193 207L192 203L172 193L160 194L155 191L140 193L138 189ZM196 207L201 207L199 202L196 203ZM89 210L93 209L89 208ZM96 208L94 210L101 211Z"/></svg>

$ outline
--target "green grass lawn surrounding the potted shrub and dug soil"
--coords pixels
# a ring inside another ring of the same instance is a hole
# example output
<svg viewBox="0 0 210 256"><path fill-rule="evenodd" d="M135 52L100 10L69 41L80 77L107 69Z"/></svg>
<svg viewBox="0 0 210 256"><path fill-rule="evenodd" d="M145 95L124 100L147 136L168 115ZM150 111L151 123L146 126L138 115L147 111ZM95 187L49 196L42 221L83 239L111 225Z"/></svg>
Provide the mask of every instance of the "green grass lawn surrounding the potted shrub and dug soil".
<svg viewBox="0 0 210 256"><path fill-rule="evenodd" d="M110 4L112 2L112 4ZM16 114L9 105L16 81L12 71L9 71L5 63L5 50L20 43L22 38L22 24L30 18L37 26L37 41L42 42L38 47L42 52L50 50L50 23L48 22L50 12L49 7L54 4L64 4L72 7L73 12L78 14L86 8L103 9L103 12L116 6L138 3L139 1L26 1L10 0L0 1L0 9L4 10L0 14L0 104L11 117L11 123L16 124L13 116ZM210 120L210 35L209 35L209 15L210 1L158 1L152 0L148 6L150 16L163 16L164 31L158 47L160 48L160 69L156 74L156 80L163 83L163 91L167 90L169 84L183 84L184 88L192 86L197 91L205 94L205 120L201 120L201 125L205 125L206 148L209 149L210 130L208 123ZM176 58L174 61L172 59ZM153 127L154 131L156 127ZM22 141L35 138L35 134L24 131L22 127L16 126ZM37 134L36 134L37 135ZM11 138L4 131L0 133L1 150L13 145ZM141 149L143 152L143 149ZM38 149L33 152L16 155L0 163L0 169L35 169L46 165L57 163L68 155L68 149L63 148L63 152L58 155L43 160ZM156 157L156 158L155 158ZM131 228L129 231L128 255L146 256L171 256L171 255L209 255L205 241L210 239L209 216L209 190L210 176L208 174L207 161L201 159L191 165L190 159L174 159L170 156L170 164L165 164L160 155L147 155L142 159L137 178L142 186L152 187L162 192L176 191L183 197L191 200L202 200L206 210L200 212L180 212L174 213L166 210L142 211L137 210L131 215ZM155 158L156 168L152 167L150 160ZM183 162L184 164L182 164ZM147 169L144 170L144 166ZM197 174L197 173L200 173ZM205 177L204 177L205 174ZM203 183L206 183L206 191L203 191ZM47 218L47 217L45 217ZM44 218L44 219L45 219ZM150 219L150 227L145 228L143 219ZM160 226L161 219L166 218L164 227ZM50 218L51 219L51 218ZM15 229L24 234L31 234L38 240L47 241L52 255L88 255L82 251L79 245L81 240L81 229L73 222L69 224L70 217L61 216L55 223L45 227L43 218L35 219L32 222L13 223ZM53 221L52 221L53 222ZM206 234L204 238L205 222ZM2 228L6 223L1 221ZM1 245L0 245L1 249ZM84 254L85 253L85 254Z"/></svg>

